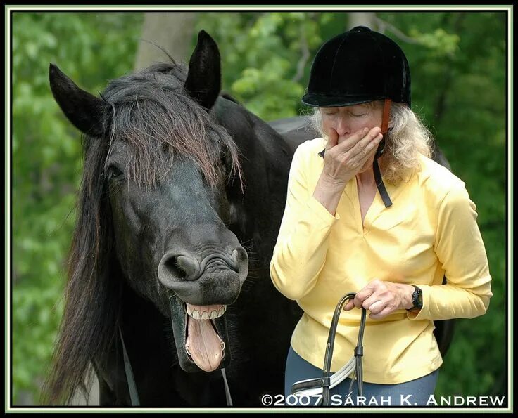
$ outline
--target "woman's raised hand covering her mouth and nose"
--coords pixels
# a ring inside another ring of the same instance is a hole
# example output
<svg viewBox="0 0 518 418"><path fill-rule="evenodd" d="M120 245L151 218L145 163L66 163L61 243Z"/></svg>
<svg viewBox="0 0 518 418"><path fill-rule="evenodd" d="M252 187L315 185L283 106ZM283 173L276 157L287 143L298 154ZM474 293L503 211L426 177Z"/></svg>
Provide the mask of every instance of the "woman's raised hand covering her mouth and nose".
<svg viewBox="0 0 518 418"><path fill-rule="evenodd" d="M348 138L339 136L335 129L329 128L329 140L324 154L322 181L330 185L343 185L353 178L373 157L383 135L381 129L363 128Z"/></svg>

